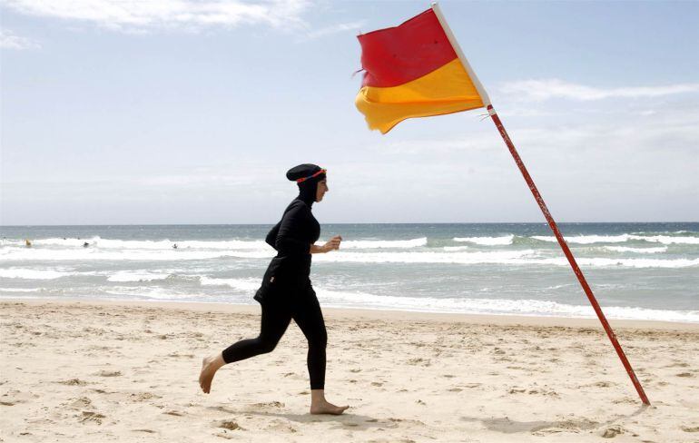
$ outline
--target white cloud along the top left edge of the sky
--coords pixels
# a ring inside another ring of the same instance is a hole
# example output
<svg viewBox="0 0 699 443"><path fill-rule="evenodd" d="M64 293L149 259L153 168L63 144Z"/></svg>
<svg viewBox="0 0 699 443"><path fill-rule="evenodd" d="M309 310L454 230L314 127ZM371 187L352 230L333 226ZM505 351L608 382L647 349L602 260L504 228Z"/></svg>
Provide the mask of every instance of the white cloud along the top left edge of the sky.
<svg viewBox="0 0 699 443"><path fill-rule="evenodd" d="M304 25L307 0L5 0L18 13L94 23L123 32L159 28L197 30L203 27Z"/></svg>

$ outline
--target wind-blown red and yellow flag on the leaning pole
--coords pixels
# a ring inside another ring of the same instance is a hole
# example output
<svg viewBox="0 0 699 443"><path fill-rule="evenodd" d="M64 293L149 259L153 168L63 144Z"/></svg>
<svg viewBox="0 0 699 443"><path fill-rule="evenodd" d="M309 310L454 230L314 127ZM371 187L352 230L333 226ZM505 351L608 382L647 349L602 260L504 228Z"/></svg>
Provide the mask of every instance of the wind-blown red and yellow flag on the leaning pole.
<svg viewBox="0 0 699 443"><path fill-rule="evenodd" d="M358 38L365 73L355 103L370 129L486 105L433 9Z"/></svg>

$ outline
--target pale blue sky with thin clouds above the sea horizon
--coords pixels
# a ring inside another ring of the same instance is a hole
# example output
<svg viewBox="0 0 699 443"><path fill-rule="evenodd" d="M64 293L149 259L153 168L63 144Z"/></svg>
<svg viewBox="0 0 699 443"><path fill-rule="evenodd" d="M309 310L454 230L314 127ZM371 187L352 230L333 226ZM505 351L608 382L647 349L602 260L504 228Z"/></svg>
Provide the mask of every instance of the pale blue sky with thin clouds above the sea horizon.
<svg viewBox="0 0 699 443"><path fill-rule="evenodd" d="M699 221L699 2L440 2L559 222ZM0 224L543 222L483 110L371 132L356 35L428 2L0 0Z"/></svg>

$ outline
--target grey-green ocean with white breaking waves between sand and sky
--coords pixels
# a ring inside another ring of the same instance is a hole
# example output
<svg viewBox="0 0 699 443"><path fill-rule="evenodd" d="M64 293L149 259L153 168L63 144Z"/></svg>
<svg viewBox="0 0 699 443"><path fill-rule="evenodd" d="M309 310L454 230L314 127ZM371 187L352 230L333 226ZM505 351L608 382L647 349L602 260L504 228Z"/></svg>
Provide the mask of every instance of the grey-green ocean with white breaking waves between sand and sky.
<svg viewBox="0 0 699 443"><path fill-rule="evenodd" d="M559 227L608 318L699 323L699 223ZM0 227L0 299L253 304L275 253L264 242L270 228ZM313 256L324 307L595 317L543 222L321 229L321 241L344 239L340 251Z"/></svg>

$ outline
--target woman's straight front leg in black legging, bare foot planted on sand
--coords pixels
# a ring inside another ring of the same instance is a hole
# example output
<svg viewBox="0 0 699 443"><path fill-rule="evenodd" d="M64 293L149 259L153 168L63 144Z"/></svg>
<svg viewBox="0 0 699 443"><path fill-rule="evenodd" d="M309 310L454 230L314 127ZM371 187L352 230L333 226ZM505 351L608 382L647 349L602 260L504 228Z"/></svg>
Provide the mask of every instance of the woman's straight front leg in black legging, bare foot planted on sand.
<svg viewBox="0 0 699 443"><path fill-rule="evenodd" d="M313 290L300 297L294 309L293 319L309 342L307 362L310 377L310 413L341 414L349 407L335 406L325 399L325 348L328 345L328 334L320 304Z"/></svg>

